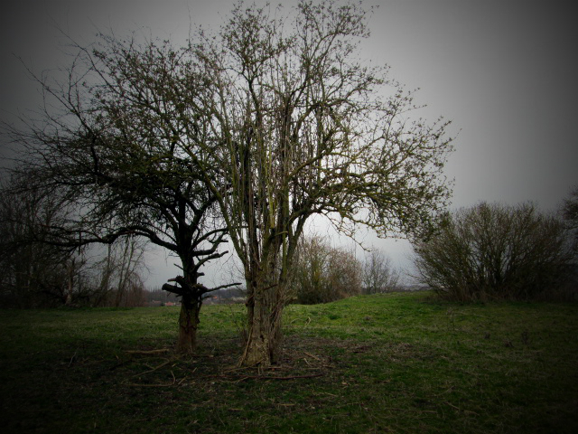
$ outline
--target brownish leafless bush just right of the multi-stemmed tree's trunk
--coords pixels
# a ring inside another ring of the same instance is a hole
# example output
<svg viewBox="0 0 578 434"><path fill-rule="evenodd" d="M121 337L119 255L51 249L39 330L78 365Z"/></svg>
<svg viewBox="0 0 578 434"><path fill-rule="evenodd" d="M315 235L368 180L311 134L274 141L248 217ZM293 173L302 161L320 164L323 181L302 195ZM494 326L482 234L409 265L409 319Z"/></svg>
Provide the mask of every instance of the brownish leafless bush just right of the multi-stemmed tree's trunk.
<svg viewBox="0 0 578 434"><path fill-rule="evenodd" d="M331 247L322 237L313 236L299 245L291 289L297 303L328 303L360 294L361 276L361 264L352 251Z"/></svg>

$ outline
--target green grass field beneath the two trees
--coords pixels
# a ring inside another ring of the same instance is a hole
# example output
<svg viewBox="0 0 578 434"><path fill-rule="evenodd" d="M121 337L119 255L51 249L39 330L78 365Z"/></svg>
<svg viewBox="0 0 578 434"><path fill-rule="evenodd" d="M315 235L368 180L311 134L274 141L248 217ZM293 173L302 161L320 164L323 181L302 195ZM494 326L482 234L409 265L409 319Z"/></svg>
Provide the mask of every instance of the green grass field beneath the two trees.
<svg viewBox="0 0 578 434"><path fill-rule="evenodd" d="M235 369L243 307L0 311L3 432L578 432L578 305L429 293L290 306L284 356ZM270 377L276 377L275 379ZM284 378L284 379L281 379Z"/></svg>

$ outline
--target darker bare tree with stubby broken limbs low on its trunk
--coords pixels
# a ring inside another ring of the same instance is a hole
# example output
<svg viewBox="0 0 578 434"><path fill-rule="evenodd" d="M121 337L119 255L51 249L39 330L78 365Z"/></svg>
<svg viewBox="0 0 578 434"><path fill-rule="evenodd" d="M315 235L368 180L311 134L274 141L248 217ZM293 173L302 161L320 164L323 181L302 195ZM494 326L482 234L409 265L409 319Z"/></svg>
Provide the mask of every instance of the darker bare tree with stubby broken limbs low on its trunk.
<svg viewBox="0 0 578 434"><path fill-rule="evenodd" d="M200 125L187 110L204 81L191 80L187 49L168 42L101 35L89 48L70 48L66 80L34 76L44 92L40 114L23 118L25 128L3 126L22 151L17 170L28 174L30 187L58 190L76 210L47 225L45 241L74 248L144 237L175 253L182 276L163 289L182 298L177 348L191 352L202 297L218 289L200 283L200 269L226 253L219 251L226 228L217 197L200 179L208 171L189 156L210 165L210 154L177 146L190 144L191 122ZM202 140L202 127L195 131Z"/></svg>

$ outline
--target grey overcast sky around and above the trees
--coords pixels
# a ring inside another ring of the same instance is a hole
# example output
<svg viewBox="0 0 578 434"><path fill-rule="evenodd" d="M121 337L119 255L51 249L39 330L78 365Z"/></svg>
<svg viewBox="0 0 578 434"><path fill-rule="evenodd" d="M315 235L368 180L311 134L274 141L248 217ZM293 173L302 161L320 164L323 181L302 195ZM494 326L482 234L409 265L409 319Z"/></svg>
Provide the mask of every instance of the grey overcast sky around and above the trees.
<svg viewBox="0 0 578 434"><path fill-rule="evenodd" d="M283 4L289 8L294 2ZM145 28L178 44L191 22L217 26L231 5L224 0L5 4L0 116L38 103L38 92L14 54L34 71L66 66L58 27L84 43L94 41L98 31L122 35ZM572 3L373 0L365 5L379 7L362 55L387 63L392 77L409 89L420 88L416 100L428 106L420 114L451 119L453 133L459 132L446 170L455 179L453 206L535 201L546 210L558 207L578 185L578 26ZM405 242L365 238L406 264ZM164 267L164 259L154 267L152 284L174 274Z"/></svg>

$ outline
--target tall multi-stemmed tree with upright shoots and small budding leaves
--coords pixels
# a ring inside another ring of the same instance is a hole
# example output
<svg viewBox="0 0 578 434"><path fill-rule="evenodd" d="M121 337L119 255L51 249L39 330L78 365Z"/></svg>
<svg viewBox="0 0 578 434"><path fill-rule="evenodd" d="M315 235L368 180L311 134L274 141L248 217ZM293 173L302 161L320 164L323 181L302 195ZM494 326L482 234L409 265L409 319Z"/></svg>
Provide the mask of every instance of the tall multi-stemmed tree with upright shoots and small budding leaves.
<svg viewBox="0 0 578 434"><path fill-rule="evenodd" d="M359 61L366 15L331 1L302 1L285 16L238 5L216 37L191 40L191 77L207 80L195 96L191 160L205 171L243 264L247 365L278 358L289 270L312 215L347 234L358 223L405 234L449 196L441 176L448 123L411 120L412 92Z"/></svg>

